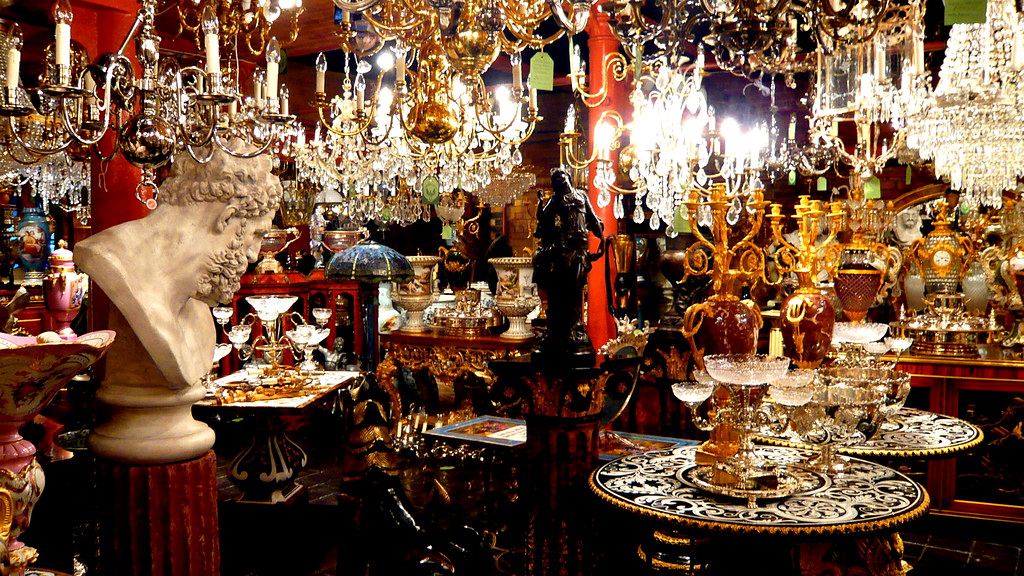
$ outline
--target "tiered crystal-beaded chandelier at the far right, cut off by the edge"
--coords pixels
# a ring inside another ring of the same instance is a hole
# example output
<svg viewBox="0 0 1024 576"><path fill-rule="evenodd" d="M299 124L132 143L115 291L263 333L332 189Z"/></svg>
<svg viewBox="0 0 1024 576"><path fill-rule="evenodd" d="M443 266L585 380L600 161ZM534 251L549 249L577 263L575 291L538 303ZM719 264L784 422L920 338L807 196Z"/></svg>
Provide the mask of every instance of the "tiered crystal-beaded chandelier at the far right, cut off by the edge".
<svg viewBox="0 0 1024 576"><path fill-rule="evenodd" d="M907 137L968 205L1001 206L1002 192L1024 175L1022 67L1021 14L1009 0L991 0L985 24L952 27L929 108Z"/></svg>

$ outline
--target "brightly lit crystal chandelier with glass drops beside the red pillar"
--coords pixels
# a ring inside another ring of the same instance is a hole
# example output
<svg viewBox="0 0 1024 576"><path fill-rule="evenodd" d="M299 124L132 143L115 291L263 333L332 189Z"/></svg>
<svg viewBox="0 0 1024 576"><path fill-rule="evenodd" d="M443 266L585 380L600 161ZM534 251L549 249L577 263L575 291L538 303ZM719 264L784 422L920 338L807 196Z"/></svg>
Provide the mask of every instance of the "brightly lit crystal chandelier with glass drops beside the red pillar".
<svg viewBox="0 0 1024 576"><path fill-rule="evenodd" d="M701 200L718 184L716 194L729 203L726 221L735 224L743 210L755 209L755 193L764 189L760 176L766 127L744 132L732 119L716 119L700 87L702 56L690 71L669 66L651 70L656 76L642 78L631 93L633 122L623 125L617 116L606 115L598 125L593 163L598 205L614 202L612 211L621 218L626 215L624 196L633 195L633 220L646 220L651 230L664 222L666 234L674 237L682 232L681 220L710 225L711 213ZM629 143L616 166L610 151L626 132ZM620 186L620 176L630 183ZM691 207L697 213L691 214Z"/></svg>

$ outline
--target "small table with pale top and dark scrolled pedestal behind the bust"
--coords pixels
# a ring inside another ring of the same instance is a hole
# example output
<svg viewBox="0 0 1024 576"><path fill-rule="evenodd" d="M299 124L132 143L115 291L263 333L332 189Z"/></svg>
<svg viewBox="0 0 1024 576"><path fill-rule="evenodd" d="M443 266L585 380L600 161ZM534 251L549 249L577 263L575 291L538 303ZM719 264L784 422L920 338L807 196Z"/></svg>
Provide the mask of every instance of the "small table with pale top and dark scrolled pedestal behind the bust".
<svg viewBox="0 0 1024 576"><path fill-rule="evenodd" d="M356 380L358 372L316 371L310 376L316 383L308 386L308 394L268 400L220 404L207 398L196 404L200 411L241 414L248 417L252 439L231 459L227 478L242 491L241 502L287 504L301 498L306 488L295 482L295 475L306 465L306 453L286 434L284 417L301 415L307 410L325 404L341 388ZM252 378L240 370L214 380L213 385L247 381Z"/></svg>

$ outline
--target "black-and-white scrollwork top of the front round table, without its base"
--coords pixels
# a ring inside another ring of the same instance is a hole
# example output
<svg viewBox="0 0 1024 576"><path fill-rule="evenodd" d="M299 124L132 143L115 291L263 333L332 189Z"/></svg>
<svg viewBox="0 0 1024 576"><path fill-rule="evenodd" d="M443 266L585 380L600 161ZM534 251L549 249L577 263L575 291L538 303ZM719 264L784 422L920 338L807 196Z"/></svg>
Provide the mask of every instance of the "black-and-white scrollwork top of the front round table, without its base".
<svg viewBox="0 0 1024 576"><path fill-rule="evenodd" d="M652 450L608 462L594 471L591 490L629 511L687 527L727 532L840 534L892 528L923 515L928 494L902 474L851 458L848 471L821 479L810 490L759 499L749 508L738 498L716 496L689 482L696 446ZM799 466L813 452L764 446L759 454Z"/></svg>

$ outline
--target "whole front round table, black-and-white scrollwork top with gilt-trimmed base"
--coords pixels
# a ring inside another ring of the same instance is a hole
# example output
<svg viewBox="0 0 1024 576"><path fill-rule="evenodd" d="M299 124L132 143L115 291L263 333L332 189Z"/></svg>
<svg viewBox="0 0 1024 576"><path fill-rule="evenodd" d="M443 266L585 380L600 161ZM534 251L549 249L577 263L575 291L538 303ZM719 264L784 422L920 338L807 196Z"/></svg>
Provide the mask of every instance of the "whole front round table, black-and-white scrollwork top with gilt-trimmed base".
<svg viewBox="0 0 1024 576"><path fill-rule="evenodd" d="M749 507L744 499L711 494L690 480L697 467L696 449L683 446L626 456L599 466L590 478L590 490L598 499L653 532L638 550L652 568L668 563L660 568L699 571L710 558L716 563L723 558L712 554L701 560L694 551L696 542L721 544L730 538L771 535L783 539L784 545L776 548L792 548L784 558L797 566L787 570L824 574L828 568L821 559L835 557L831 548L844 546L854 550L845 554L852 557L850 562L856 561L868 573L893 574L902 568L902 541L895 530L928 510L925 489L897 470L850 458L843 475L821 475L802 465L813 452L775 446L758 447L758 452L787 466L804 479L806 488L784 498L759 499L756 507ZM735 545L750 543L740 541ZM676 561L666 560L666 544L676 545L675 556L670 554ZM870 549L872 558L856 558L864 549ZM674 562L678 564L671 566Z"/></svg>

